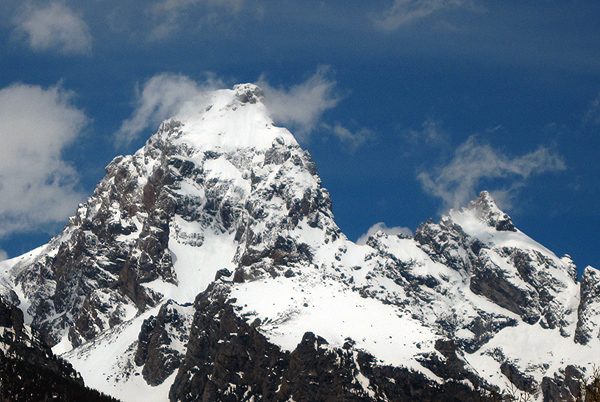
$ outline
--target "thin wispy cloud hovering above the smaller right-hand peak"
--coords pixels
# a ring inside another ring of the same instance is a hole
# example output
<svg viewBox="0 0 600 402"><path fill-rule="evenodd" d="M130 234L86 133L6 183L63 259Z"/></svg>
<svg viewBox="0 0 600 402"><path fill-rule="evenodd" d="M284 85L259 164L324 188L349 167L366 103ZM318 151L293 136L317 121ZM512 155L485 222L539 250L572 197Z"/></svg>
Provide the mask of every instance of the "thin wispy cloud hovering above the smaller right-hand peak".
<svg viewBox="0 0 600 402"><path fill-rule="evenodd" d="M563 159L548 148L540 147L511 158L490 145L478 144L475 136L471 136L456 149L454 159L448 165L432 172L421 172L417 178L427 193L443 200L444 208L456 208L476 198L477 187L484 179L510 181L508 189L493 192L499 201L507 202L530 176L565 168Z"/></svg>

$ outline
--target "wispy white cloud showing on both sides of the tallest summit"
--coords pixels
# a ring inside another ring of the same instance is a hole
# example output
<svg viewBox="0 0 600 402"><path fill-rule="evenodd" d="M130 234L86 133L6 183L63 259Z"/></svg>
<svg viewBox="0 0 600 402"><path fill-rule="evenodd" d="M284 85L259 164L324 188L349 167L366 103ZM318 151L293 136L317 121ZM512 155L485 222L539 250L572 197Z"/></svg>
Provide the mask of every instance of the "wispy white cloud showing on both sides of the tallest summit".
<svg viewBox="0 0 600 402"><path fill-rule="evenodd" d="M290 128L300 141L308 141L317 128L325 128L351 149L372 137L366 128L353 133L339 123L334 126L322 123L323 113L337 106L341 99L335 91L336 82L328 78L326 67L320 67L304 82L288 88L272 86L264 75L257 85L265 93L264 102L274 122ZM208 74L204 81L172 73L153 76L137 90L135 109L115 134L117 145L127 146L144 130L155 130L161 121L176 115L188 101L226 86L224 80L213 74Z"/></svg>

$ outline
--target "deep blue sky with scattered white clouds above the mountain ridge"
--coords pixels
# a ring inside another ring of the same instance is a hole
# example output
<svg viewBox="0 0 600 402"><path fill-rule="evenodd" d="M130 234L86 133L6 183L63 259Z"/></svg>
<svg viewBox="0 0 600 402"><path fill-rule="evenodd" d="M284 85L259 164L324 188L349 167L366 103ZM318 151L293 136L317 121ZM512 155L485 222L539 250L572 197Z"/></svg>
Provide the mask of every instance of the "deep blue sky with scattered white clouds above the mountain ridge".
<svg viewBox="0 0 600 402"><path fill-rule="evenodd" d="M525 233L600 267L597 1L0 7L4 257L58 233L190 93L257 82L349 238L414 231L489 190Z"/></svg>

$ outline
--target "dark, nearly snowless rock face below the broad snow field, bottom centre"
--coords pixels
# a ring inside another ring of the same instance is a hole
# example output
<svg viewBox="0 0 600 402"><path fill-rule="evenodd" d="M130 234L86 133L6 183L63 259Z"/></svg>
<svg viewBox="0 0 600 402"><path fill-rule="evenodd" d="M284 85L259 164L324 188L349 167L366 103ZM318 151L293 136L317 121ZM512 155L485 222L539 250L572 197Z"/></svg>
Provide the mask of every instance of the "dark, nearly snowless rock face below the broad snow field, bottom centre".
<svg viewBox="0 0 600 402"><path fill-rule="evenodd" d="M226 293L211 286L198 296L171 401L487 400L460 382L440 386L407 369L378 366L352 342L331 347L312 332L291 353L282 351L235 313Z"/></svg>

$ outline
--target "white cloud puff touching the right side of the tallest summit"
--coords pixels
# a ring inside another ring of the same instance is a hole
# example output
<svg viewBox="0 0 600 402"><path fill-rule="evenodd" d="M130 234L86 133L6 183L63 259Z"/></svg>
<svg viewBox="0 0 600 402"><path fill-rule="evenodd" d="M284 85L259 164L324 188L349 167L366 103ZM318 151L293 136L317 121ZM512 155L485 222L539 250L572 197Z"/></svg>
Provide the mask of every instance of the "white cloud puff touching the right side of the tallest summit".
<svg viewBox="0 0 600 402"><path fill-rule="evenodd" d="M293 129L300 141L307 141L323 113L340 101L340 97L334 92L336 82L329 79L328 74L329 68L320 67L305 82L289 90L272 87L264 76L257 83L265 93L264 102L275 123Z"/></svg>

